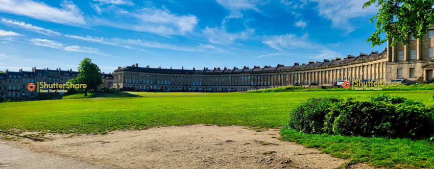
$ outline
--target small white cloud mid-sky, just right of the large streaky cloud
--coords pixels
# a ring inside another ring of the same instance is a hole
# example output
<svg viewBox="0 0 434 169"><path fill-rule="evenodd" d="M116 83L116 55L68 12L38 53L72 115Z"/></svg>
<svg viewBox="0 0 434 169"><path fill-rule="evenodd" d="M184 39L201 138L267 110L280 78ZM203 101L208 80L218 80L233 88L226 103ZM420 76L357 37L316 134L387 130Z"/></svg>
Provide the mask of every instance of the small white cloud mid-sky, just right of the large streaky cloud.
<svg viewBox="0 0 434 169"><path fill-rule="evenodd" d="M223 29L206 27L203 33L211 43L232 44L236 40L247 40L255 34L255 30L248 28L246 31L229 33Z"/></svg>

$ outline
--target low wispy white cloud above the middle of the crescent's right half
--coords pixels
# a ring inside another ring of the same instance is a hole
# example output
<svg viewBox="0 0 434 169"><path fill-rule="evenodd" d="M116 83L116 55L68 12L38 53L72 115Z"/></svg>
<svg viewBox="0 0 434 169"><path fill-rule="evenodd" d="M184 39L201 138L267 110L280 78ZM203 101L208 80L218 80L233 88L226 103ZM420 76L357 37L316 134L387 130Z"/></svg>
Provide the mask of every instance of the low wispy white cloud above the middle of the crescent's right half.
<svg viewBox="0 0 434 169"><path fill-rule="evenodd" d="M280 36L274 35L266 37L267 40L262 41L262 43L265 43L279 51L282 51L283 49L294 48L312 49L321 46L310 42L308 37L309 34L307 33L305 33L303 36L297 36L295 34L285 34Z"/></svg>

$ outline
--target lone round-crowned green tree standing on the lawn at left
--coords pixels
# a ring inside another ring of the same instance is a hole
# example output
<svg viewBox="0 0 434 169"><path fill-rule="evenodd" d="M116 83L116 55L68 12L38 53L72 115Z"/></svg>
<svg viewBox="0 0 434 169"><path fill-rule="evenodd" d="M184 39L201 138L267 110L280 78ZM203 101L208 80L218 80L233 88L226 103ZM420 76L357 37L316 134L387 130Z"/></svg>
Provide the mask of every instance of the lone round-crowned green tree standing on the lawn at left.
<svg viewBox="0 0 434 169"><path fill-rule="evenodd" d="M87 88L84 89L84 96L87 96L88 90L95 90L103 84L100 77L100 68L92 63L92 59L84 58L77 67L79 74L77 78L69 80L74 84L86 84Z"/></svg>

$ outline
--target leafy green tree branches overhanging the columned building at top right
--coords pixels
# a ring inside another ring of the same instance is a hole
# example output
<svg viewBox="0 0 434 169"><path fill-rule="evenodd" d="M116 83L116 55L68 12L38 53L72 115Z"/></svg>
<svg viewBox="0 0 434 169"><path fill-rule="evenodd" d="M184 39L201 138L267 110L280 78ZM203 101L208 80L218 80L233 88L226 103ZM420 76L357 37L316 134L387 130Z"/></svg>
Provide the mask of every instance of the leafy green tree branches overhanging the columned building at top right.
<svg viewBox="0 0 434 169"><path fill-rule="evenodd" d="M372 47L392 38L395 39L391 46L398 42L408 44L412 34L415 39L421 38L427 32L428 26L434 25L434 15L431 14L434 0L369 0L363 8L376 2L376 7L380 9L370 22L377 19L377 31L366 40L372 42ZM382 39L381 33L386 33L386 38Z"/></svg>

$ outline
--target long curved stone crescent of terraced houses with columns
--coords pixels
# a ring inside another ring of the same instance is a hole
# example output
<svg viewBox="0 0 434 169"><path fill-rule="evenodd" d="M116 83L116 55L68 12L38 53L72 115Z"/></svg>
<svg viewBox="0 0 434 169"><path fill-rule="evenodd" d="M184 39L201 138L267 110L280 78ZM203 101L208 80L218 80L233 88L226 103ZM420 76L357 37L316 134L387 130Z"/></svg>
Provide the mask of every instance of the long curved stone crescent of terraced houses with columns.
<svg viewBox="0 0 434 169"><path fill-rule="evenodd" d="M114 70L113 87L141 90L166 91L247 91L252 89L274 88L287 85L333 85L340 80L372 79L390 81L404 78L411 81L424 81L434 77L434 28L424 37L412 39L409 44L399 43L382 52L347 58L324 59L322 62L309 61L291 66L278 64L233 67L228 69L203 68L172 69L132 66ZM393 40L393 39L392 39Z"/></svg>

